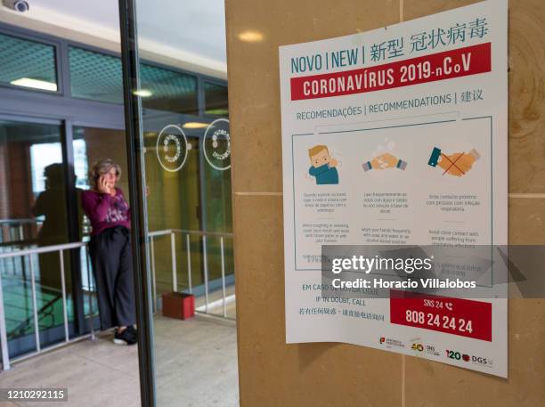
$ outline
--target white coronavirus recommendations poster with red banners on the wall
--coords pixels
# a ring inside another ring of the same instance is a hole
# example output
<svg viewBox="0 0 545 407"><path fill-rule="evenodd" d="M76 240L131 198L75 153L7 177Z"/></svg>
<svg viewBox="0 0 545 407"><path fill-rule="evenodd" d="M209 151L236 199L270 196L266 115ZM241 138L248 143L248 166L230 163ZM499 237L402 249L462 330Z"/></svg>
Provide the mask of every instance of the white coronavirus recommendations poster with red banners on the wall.
<svg viewBox="0 0 545 407"><path fill-rule="evenodd" d="M507 22L489 0L280 47L288 343L507 377L507 290L484 282L500 270L426 301L326 297L321 271L324 245L507 245Z"/></svg>

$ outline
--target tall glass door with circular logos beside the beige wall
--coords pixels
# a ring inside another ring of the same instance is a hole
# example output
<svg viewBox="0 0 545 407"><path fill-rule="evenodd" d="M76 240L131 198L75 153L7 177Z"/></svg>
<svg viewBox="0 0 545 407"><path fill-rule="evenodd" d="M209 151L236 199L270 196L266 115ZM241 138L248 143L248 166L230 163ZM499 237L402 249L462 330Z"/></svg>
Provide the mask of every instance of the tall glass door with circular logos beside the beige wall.
<svg viewBox="0 0 545 407"><path fill-rule="evenodd" d="M121 2L125 92L132 104L126 103L126 114L134 124L127 130L142 177L137 183L145 183L145 188L135 185L145 195L139 212L145 262L141 281L137 277L144 290L140 346L147 394L142 398L158 406L212 405L221 396L234 406L238 368L226 64L210 63L225 58L224 9L223 4L163 5ZM199 24L206 28L196 37ZM138 56L150 55L150 44L168 50L163 61L169 66Z"/></svg>

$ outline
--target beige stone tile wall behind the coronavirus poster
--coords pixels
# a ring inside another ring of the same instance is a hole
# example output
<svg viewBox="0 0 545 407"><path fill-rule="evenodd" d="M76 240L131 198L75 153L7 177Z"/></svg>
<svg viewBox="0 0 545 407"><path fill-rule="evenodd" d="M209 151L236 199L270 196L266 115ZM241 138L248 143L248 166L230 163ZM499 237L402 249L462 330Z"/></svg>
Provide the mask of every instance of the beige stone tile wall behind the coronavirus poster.
<svg viewBox="0 0 545 407"><path fill-rule="evenodd" d="M545 405L545 303L511 300L508 378L340 344L285 344L278 46L470 0L226 0L240 405ZM545 2L509 6L509 240L545 242ZM238 34L256 29L262 43Z"/></svg>

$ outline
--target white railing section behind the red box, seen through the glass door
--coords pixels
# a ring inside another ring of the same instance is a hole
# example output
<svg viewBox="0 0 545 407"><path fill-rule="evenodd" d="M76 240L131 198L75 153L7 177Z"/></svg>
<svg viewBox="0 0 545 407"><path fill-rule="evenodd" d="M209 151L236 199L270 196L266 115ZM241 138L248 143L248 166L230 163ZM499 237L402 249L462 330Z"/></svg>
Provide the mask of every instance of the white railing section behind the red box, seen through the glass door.
<svg viewBox="0 0 545 407"><path fill-rule="evenodd" d="M223 306L223 316L227 318L227 304L234 299L234 295L227 297L226 294L226 283L225 283L225 240L232 239L232 233L224 232L202 232L202 231L190 231L184 229L167 229L164 231L150 232L148 237L150 239L150 265L151 265L151 281L152 281L152 297L153 297L153 312L157 311L157 279L156 279L156 263L155 263L155 238L159 236L170 235L170 254L172 261L172 290L178 292L178 273L177 273L177 261L176 261L176 249L175 249L175 239L176 233L181 234L185 237L185 250L187 257L187 281L188 281L188 292L192 294L193 284L192 284L192 270L191 270L191 236L200 236L202 237L202 259L203 259L203 273L204 273L204 297L205 304L202 307L196 309L199 313L209 313L209 308L211 308L211 303L209 301L209 273L208 273L208 256L207 256L207 239L216 237L220 241L220 265L222 273L222 299L221 305Z"/></svg>

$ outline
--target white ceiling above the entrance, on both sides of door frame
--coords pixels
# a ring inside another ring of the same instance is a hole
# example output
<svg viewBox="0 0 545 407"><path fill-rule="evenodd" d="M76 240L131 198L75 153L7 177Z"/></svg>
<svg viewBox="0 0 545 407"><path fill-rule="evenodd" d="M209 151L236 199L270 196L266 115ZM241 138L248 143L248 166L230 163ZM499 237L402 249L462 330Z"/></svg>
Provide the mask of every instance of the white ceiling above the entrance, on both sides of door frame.
<svg viewBox="0 0 545 407"><path fill-rule="evenodd" d="M226 71L224 0L135 0L142 49ZM119 40L117 0L28 0L25 17Z"/></svg>

